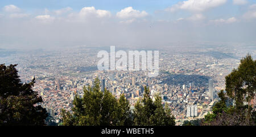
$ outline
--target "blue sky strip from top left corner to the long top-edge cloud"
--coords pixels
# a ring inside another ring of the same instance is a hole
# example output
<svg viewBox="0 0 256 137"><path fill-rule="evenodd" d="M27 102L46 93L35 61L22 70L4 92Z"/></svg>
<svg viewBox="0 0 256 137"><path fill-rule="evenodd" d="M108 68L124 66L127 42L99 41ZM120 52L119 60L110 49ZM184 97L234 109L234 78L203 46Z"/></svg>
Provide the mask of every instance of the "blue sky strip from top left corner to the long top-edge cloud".
<svg viewBox="0 0 256 137"><path fill-rule="evenodd" d="M119 11L125 7L132 6L138 10L146 10L148 13L154 13L155 10L166 9L174 5L178 0L1 0L0 6L16 5L27 11L38 9L61 9L72 7L73 10L79 11L82 7L94 6L97 9Z"/></svg>

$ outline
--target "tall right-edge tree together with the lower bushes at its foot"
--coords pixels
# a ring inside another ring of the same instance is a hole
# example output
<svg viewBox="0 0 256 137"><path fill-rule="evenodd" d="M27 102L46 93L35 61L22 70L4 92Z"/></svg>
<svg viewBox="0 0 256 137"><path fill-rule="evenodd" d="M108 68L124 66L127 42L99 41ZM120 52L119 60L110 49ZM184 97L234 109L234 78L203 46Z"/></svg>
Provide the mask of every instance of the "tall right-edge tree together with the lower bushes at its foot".
<svg viewBox="0 0 256 137"><path fill-rule="evenodd" d="M255 96L256 61L250 55L243 57L238 69L225 77L227 96L221 91L221 101L213 106L213 113L205 115L205 125L253 125L255 111L250 106ZM233 99L234 106L226 106L226 100ZM244 103L247 102L247 105Z"/></svg>

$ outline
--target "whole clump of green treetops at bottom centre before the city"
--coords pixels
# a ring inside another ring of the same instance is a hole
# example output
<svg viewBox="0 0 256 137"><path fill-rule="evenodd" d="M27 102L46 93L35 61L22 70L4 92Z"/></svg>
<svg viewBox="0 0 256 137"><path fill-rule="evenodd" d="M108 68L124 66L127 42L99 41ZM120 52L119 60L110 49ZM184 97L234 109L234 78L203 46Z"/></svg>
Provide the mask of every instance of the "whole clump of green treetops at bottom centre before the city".
<svg viewBox="0 0 256 137"><path fill-rule="evenodd" d="M167 106L164 109L160 96L152 101L146 87L142 102L135 105L134 114L123 94L116 99L106 89L101 92L98 78L95 79L93 88L84 87L84 97L75 97L73 105L73 114L62 110L64 125L175 125L170 109Z"/></svg>

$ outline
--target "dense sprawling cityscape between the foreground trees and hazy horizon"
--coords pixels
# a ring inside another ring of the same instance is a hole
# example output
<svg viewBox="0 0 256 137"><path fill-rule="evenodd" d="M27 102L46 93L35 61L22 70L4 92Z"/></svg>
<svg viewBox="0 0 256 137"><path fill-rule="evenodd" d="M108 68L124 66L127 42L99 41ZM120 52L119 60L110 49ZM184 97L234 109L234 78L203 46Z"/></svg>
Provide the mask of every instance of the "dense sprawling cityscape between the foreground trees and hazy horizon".
<svg viewBox="0 0 256 137"><path fill-rule="evenodd" d="M116 98L121 94L131 109L143 96L148 86L151 96L160 94L170 106L176 125L187 119L203 118L218 101L217 93L225 90L225 76L237 68L247 53L256 58L251 44L240 43L183 43L159 48L159 75L148 77L139 71L100 71L97 69L97 52L109 47L77 46L59 51L38 50L16 52L0 49L1 63L18 64L22 82L35 78L34 90L43 98L40 104L60 121L60 110L71 111L72 101L83 96L84 86L92 86L96 77L101 89L108 89ZM119 48L123 51L130 49ZM141 50L154 50L147 48ZM132 49L136 50L136 49ZM255 106L254 98L254 106Z"/></svg>

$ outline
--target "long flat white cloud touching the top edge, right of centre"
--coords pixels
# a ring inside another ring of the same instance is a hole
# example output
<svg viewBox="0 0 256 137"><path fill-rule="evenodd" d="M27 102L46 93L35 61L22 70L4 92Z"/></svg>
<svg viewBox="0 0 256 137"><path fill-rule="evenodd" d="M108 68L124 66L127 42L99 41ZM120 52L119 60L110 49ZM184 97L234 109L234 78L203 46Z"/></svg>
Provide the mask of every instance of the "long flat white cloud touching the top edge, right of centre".
<svg viewBox="0 0 256 137"><path fill-rule="evenodd" d="M179 2L174 6L166 9L166 11L176 10L190 10L190 11L204 11L213 7L217 7L226 3L226 0L187 0Z"/></svg>

